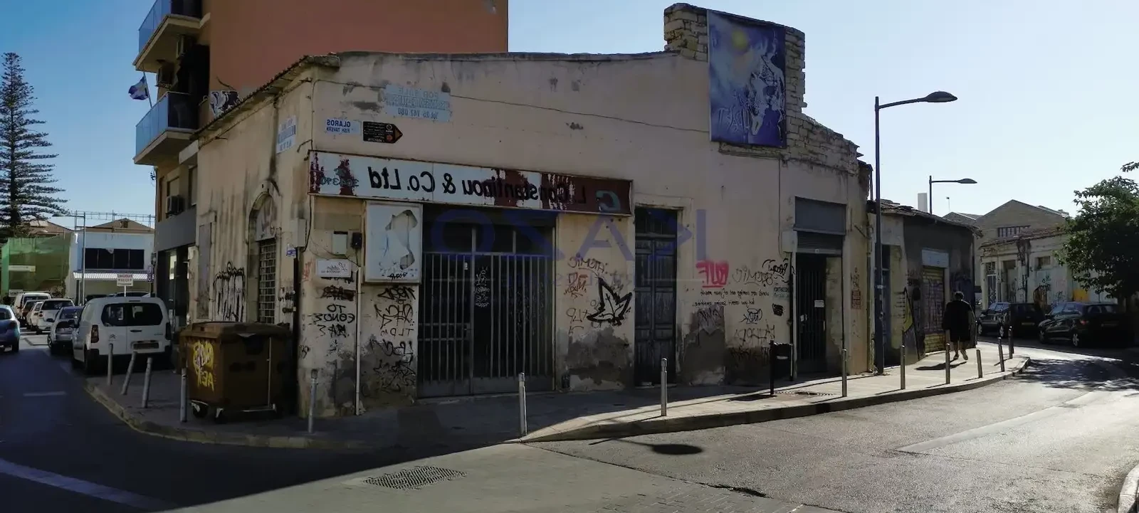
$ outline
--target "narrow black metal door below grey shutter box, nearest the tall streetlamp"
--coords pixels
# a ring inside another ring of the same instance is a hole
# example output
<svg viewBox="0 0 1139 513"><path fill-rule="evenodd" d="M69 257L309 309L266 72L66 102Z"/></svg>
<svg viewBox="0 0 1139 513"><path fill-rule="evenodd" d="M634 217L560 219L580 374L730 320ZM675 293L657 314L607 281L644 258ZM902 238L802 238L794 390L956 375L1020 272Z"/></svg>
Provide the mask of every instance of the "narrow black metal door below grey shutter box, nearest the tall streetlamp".
<svg viewBox="0 0 1139 513"><path fill-rule="evenodd" d="M798 372L827 370L827 257L796 255L795 307L798 312Z"/></svg>

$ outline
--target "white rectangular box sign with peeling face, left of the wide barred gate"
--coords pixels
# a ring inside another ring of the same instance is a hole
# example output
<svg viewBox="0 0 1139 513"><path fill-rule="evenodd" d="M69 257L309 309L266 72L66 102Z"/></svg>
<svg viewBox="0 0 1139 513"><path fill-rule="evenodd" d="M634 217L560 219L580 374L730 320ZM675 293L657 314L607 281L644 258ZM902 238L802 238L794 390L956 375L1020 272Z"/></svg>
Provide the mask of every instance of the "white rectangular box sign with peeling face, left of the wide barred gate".
<svg viewBox="0 0 1139 513"><path fill-rule="evenodd" d="M423 206L368 204L364 218L366 282L418 283L423 262Z"/></svg>

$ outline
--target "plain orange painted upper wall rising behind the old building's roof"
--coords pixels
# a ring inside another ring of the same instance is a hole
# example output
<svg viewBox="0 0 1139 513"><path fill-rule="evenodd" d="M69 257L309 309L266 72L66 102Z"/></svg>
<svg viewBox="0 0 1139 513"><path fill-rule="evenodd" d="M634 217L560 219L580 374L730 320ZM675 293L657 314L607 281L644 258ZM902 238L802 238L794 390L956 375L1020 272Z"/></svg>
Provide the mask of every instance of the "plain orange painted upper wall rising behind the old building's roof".
<svg viewBox="0 0 1139 513"><path fill-rule="evenodd" d="M507 51L507 0L212 0L211 90L243 96L304 55ZM492 8L493 6L493 8Z"/></svg>

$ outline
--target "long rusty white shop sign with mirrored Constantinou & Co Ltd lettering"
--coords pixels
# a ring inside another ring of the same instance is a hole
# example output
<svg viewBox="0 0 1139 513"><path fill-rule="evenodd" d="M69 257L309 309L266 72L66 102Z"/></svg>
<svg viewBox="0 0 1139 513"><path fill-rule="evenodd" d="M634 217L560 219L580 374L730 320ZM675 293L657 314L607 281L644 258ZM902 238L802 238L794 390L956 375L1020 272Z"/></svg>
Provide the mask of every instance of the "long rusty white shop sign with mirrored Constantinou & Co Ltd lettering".
<svg viewBox="0 0 1139 513"><path fill-rule="evenodd" d="M631 191L628 180L309 154L313 195L629 215Z"/></svg>

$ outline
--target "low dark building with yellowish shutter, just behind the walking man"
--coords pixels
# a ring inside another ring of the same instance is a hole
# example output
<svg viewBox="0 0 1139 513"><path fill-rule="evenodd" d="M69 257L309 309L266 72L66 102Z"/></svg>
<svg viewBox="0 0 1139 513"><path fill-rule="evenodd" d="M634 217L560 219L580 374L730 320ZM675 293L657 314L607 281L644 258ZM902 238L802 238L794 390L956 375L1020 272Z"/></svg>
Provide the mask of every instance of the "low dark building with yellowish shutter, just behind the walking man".
<svg viewBox="0 0 1139 513"><path fill-rule="evenodd" d="M953 292L973 297L974 241L980 230L893 201L883 201L883 214L886 363L901 361L903 342L907 363L913 363L945 347L941 321Z"/></svg>

